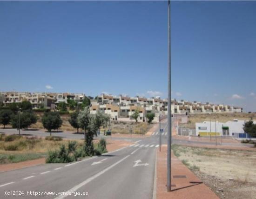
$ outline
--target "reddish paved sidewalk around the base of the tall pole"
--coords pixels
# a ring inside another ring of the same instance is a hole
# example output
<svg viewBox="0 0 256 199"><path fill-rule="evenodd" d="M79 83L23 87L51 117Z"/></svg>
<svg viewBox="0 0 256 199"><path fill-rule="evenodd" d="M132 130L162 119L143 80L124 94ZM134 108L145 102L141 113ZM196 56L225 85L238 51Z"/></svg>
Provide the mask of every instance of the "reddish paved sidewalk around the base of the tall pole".
<svg viewBox="0 0 256 199"><path fill-rule="evenodd" d="M166 191L167 147L156 153L156 199L219 199L172 153L172 192ZM193 183L190 183L193 182Z"/></svg>

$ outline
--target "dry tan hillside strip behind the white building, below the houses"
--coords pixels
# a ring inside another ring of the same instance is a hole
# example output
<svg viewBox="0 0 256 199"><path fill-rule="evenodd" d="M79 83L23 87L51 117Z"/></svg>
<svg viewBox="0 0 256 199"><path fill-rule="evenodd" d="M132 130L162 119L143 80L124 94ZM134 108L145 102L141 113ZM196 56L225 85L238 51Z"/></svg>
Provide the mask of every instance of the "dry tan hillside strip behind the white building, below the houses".
<svg viewBox="0 0 256 199"><path fill-rule="evenodd" d="M218 122L232 121L233 119L249 120L251 117L256 120L256 113L211 113L211 120ZM182 127L195 128L196 122L209 121L208 114L189 114L187 124L179 124Z"/></svg>

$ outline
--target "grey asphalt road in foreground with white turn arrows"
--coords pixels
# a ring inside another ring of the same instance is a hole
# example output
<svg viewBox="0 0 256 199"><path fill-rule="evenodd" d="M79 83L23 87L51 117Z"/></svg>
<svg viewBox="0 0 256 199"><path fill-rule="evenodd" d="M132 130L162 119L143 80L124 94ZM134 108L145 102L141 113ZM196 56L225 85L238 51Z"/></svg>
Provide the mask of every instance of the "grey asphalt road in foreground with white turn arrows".
<svg viewBox="0 0 256 199"><path fill-rule="evenodd" d="M138 140L134 146L71 164L45 164L1 172L0 198L54 199L58 192L69 191L73 195L58 198L151 199L158 141L151 136ZM6 195L11 191L20 191L16 193L22 195ZM35 196L33 191L42 195ZM88 195L74 196L77 192Z"/></svg>

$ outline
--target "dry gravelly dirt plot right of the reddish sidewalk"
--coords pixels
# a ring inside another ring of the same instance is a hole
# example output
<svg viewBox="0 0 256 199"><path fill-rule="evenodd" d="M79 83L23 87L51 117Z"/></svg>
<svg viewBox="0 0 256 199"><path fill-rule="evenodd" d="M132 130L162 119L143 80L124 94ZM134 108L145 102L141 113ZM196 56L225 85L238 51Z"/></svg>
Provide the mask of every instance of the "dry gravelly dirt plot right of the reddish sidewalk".
<svg viewBox="0 0 256 199"><path fill-rule="evenodd" d="M256 153L173 146L178 159L221 199L256 198Z"/></svg>

